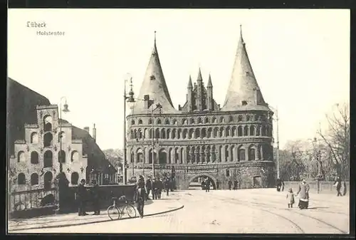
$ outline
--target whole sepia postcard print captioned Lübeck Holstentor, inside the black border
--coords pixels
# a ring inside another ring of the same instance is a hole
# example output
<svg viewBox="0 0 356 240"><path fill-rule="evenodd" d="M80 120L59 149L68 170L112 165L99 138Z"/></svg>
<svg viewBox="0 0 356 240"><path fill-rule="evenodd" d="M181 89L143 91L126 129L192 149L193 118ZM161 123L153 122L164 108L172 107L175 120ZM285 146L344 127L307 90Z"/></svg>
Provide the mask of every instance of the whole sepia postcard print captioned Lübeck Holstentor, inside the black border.
<svg viewBox="0 0 356 240"><path fill-rule="evenodd" d="M350 11L9 9L14 233L349 234Z"/></svg>

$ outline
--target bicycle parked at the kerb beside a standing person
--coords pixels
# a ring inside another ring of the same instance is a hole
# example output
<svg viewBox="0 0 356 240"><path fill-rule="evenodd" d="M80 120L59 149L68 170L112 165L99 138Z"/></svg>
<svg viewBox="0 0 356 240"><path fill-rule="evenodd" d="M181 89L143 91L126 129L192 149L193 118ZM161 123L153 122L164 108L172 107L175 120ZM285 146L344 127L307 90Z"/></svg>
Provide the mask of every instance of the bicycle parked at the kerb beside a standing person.
<svg viewBox="0 0 356 240"><path fill-rule="evenodd" d="M130 218L136 217L136 209L130 204L125 196L112 197L113 204L108 207L108 216L111 220L121 219L127 214ZM118 203L117 203L118 202Z"/></svg>

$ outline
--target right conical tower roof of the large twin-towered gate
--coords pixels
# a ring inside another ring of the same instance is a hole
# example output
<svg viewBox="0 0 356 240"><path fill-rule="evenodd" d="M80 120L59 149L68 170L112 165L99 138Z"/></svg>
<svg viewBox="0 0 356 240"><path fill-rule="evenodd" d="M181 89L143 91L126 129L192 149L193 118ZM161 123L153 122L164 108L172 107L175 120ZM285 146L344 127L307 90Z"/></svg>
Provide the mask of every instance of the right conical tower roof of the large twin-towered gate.
<svg viewBox="0 0 356 240"><path fill-rule="evenodd" d="M266 106L253 73L251 63L248 59L240 25L240 39L236 51L234 68L229 88L226 93L224 106L221 110L240 110L241 105L244 105L242 104L243 101L246 101L246 106Z"/></svg>

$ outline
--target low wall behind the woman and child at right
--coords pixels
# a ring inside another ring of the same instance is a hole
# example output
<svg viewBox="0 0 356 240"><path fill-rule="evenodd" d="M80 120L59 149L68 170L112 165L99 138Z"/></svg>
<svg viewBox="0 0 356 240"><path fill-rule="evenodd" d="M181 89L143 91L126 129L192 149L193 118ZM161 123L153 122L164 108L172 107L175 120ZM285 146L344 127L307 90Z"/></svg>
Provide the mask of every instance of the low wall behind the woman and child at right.
<svg viewBox="0 0 356 240"><path fill-rule="evenodd" d="M298 191L300 182L284 182L284 187L285 190L292 188L293 192ZM334 186L334 182L318 182L318 181L311 181L308 182L310 186L309 192L311 193L318 193L318 184L319 184L319 193L320 194L336 194L336 187ZM343 192L343 185L344 182L342 182L342 187L341 187L341 192ZM350 192L350 182L346 182L346 188L348 192Z"/></svg>

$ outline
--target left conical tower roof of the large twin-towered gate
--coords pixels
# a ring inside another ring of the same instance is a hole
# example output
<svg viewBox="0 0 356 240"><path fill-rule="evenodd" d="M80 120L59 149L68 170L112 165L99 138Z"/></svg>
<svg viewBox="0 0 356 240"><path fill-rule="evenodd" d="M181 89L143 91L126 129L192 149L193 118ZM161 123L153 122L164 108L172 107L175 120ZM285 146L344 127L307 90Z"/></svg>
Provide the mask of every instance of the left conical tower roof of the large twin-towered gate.
<svg viewBox="0 0 356 240"><path fill-rule="evenodd" d="M156 33L156 32L155 32ZM155 34L155 44L152 49L150 56L150 61L148 63L146 73L140 88L140 93L132 108L132 114L147 113L147 108L145 108L145 103L142 101L145 95L150 95L150 100L154 100L154 103L159 103L162 105L162 113L177 113L178 110L174 109L169 91L167 88L166 81L164 80L164 75L159 62L159 56L156 46L156 34Z"/></svg>

